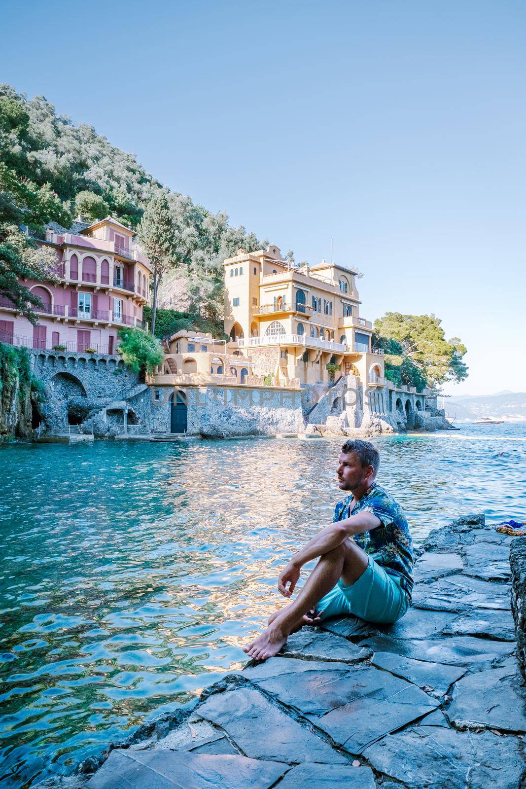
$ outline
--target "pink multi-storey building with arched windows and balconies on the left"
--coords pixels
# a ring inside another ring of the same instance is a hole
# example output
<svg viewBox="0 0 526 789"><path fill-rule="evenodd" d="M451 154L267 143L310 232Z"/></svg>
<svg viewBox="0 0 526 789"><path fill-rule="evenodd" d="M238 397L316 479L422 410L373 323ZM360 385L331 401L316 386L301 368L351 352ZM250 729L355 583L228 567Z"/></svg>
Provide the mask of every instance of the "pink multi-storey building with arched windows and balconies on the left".
<svg viewBox="0 0 526 789"><path fill-rule="evenodd" d="M60 283L24 282L43 301L35 309L38 326L0 297L0 342L114 353L118 329L143 328L150 265L134 243L135 234L110 216L80 230L76 224L71 229L76 233L47 227L46 241L39 241L57 250Z"/></svg>

